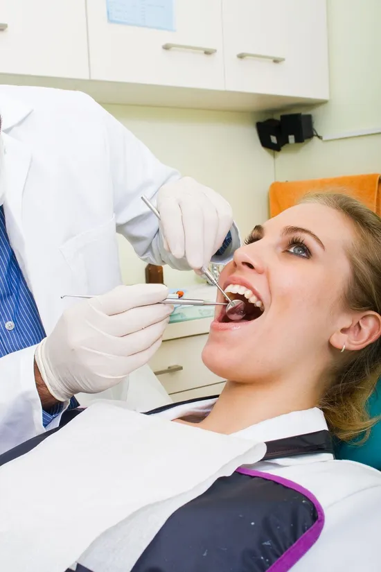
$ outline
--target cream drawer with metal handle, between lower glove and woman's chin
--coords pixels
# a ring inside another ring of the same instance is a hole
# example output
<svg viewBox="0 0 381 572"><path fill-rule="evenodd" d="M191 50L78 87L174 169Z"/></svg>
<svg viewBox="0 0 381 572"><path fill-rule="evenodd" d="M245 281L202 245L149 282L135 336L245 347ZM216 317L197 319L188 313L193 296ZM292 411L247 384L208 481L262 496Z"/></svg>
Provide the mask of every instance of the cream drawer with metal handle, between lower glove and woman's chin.
<svg viewBox="0 0 381 572"><path fill-rule="evenodd" d="M177 393L224 381L210 372L202 363L201 354L207 339L208 335L204 334L168 340L161 344L149 365L153 372L162 372L156 374L168 393ZM167 373L168 367L173 367L175 371Z"/></svg>

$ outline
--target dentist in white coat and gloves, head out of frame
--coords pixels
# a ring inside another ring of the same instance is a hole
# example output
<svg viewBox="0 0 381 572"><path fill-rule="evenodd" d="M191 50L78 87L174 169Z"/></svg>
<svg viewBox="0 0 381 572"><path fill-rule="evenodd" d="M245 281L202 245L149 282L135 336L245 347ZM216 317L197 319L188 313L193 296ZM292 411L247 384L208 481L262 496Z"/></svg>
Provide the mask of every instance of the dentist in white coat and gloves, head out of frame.
<svg viewBox="0 0 381 572"><path fill-rule="evenodd" d="M116 232L147 263L179 270L228 261L239 239L218 193L161 164L89 96L0 86L0 117L2 453L159 347L168 290L120 286Z"/></svg>

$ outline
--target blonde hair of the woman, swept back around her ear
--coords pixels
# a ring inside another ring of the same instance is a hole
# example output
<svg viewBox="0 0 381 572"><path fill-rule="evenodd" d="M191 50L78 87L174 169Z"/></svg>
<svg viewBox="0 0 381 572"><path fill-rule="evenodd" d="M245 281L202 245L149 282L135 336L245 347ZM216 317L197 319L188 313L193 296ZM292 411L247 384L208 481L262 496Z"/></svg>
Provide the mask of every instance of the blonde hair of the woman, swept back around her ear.
<svg viewBox="0 0 381 572"><path fill-rule="evenodd" d="M352 275L344 291L348 308L381 315L381 218L361 202L347 196L345 189L305 196L300 202L314 202L339 211L353 225L355 240L348 251ZM357 352L338 354L323 399L330 430L339 439L351 441L369 437L379 418L369 416L367 402L381 375L381 338Z"/></svg>

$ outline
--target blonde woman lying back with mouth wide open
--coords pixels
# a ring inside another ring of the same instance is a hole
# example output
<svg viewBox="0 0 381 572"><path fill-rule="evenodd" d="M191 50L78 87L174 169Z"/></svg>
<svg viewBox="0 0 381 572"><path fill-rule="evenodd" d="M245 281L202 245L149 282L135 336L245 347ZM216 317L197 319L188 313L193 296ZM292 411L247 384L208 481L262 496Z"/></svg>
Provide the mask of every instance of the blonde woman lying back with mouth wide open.
<svg viewBox="0 0 381 572"><path fill-rule="evenodd" d="M339 193L308 196L254 227L220 284L247 313L231 322L218 306L202 359L229 381L218 398L150 415L266 442L267 453L173 512L132 571L380 570L381 474L335 460L332 445L366 439L375 422L380 217ZM90 546L97 568L85 557L73 570L121 571L128 550L121 523Z"/></svg>

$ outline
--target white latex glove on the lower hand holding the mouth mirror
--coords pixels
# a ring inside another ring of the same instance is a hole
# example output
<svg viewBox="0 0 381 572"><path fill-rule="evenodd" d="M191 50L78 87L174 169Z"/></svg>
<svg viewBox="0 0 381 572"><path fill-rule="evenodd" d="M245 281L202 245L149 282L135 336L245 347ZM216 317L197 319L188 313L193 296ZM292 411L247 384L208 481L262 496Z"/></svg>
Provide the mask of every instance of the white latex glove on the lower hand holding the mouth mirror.
<svg viewBox="0 0 381 572"><path fill-rule="evenodd" d="M98 393L147 363L161 344L173 306L162 284L118 286L64 311L37 346L35 360L58 401Z"/></svg>

